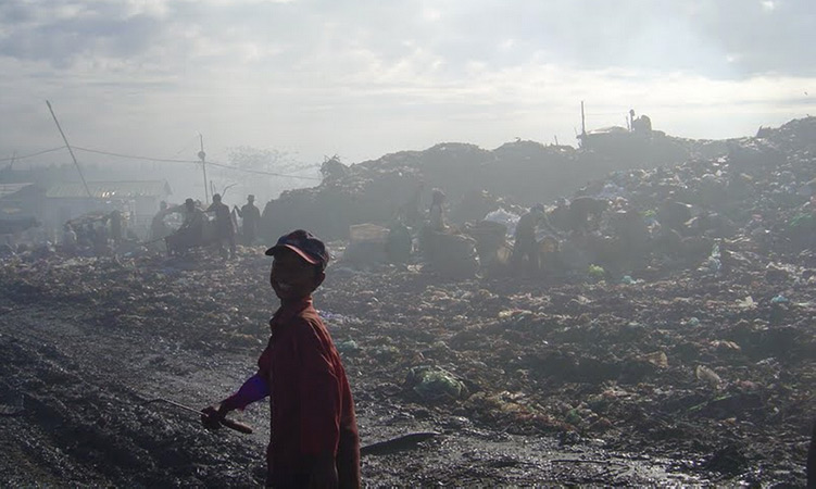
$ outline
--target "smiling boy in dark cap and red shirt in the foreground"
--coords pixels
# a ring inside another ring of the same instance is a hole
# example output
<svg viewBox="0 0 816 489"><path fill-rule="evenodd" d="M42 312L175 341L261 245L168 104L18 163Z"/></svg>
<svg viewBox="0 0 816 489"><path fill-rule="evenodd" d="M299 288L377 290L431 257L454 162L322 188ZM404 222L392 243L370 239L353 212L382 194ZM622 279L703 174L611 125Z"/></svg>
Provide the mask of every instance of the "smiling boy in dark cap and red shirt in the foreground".
<svg viewBox="0 0 816 489"><path fill-rule="evenodd" d="M312 234L298 229L266 250L269 284L280 299L258 373L233 396L205 408L201 421L219 427L233 410L267 396L272 435L266 450L267 486L350 487L360 481L360 437L354 401L334 342L312 306L326 278L329 254Z"/></svg>

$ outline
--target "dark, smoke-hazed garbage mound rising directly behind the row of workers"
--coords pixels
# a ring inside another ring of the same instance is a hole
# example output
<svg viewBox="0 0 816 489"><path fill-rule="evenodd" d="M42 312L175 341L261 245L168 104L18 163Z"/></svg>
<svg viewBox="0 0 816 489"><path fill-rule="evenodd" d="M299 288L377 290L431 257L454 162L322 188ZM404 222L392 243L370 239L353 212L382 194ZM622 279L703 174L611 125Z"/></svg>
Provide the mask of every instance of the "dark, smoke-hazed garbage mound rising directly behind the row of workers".
<svg viewBox="0 0 816 489"><path fill-rule="evenodd" d="M529 206L615 170L680 163L694 154L719 155L725 151L724 145L714 141L654 131L648 138L615 135L579 150L525 140L492 151L445 142L353 165L332 159L323 165L321 186L289 190L271 201L261 228L267 238L302 226L325 239L348 239L350 225L388 223L406 205L416 205L419 188L418 201L427 209L430 192L437 187L448 195L453 204L451 216L461 225L475 214L484 216L498 200L506 199L505 205Z"/></svg>

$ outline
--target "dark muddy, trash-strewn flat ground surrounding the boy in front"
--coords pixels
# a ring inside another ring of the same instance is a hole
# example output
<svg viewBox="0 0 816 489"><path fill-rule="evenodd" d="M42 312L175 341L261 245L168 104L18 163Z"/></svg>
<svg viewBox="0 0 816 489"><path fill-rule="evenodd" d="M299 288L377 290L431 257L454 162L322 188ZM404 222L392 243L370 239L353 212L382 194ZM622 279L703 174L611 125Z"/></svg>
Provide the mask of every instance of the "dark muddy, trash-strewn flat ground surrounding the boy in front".
<svg viewBox="0 0 816 489"><path fill-rule="evenodd" d="M0 485L260 484L265 403L238 415L246 436L145 401L202 408L253 373L276 306L261 253L0 262ZM813 276L748 262L547 285L335 264L315 305L363 444L439 434L365 456L368 486L803 486ZM457 389L420 389L426 371Z"/></svg>

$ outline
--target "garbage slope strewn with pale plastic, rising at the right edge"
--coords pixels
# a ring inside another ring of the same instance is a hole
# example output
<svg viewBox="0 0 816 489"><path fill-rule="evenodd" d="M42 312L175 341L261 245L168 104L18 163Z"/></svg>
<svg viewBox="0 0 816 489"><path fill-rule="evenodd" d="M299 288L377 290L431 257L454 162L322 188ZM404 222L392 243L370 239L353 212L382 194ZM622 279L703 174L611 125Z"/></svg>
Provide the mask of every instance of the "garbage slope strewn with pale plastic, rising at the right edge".
<svg viewBox="0 0 816 489"><path fill-rule="evenodd" d="M816 141L808 139L814 127L814 117L792 121L763 130L762 138L727 141L725 155L615 172L577 195L611 201L604 235L614 235L615 217L630 210L645 225L663 224L682 238L700 238L702 250L725 240L735 261L775 255L796 260L812 249L816 230ZM673 221L681 222L675 226Z"/></svg>

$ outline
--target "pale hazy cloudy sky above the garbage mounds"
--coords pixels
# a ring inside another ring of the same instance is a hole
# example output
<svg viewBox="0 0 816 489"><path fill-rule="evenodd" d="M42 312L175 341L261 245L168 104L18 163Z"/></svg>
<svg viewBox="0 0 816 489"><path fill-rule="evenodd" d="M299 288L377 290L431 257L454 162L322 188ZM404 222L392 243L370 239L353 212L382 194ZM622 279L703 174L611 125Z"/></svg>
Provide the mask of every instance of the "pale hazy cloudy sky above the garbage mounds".
<svg viewBox="0 0 816 489"><path fill-rule="evenodd" d="M814 0L3 0L0 158L62 145L46 99L72 143L156 158L573 145L581 100L744 136L816 113L815 48Z"/></svg>

